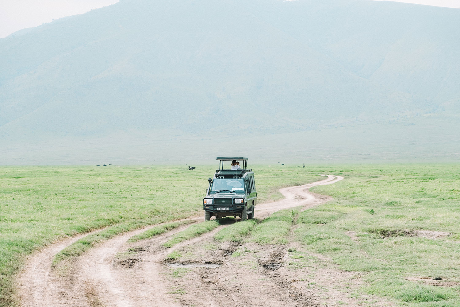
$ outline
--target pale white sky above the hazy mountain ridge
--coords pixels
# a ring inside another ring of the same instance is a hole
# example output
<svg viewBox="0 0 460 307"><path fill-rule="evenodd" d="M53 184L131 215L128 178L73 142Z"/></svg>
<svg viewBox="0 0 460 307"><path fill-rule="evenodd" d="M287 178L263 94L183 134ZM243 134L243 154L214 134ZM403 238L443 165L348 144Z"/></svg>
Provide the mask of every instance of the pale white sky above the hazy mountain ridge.
<svg viewBox="0 0 460 307"><path fill-rule="evenodd" d="M109 6L119 0L0 0L0 38L17 30L36 27L91 9ZM382 0L374 0L382 1ZM395 0L431 6L460 8L460 0Z"/></svg>

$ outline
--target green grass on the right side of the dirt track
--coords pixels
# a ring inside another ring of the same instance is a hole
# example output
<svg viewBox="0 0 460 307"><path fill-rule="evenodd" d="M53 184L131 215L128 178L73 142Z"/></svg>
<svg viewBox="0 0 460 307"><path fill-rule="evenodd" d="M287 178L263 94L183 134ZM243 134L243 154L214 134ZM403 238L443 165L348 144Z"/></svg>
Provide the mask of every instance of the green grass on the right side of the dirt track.
<svg viewBox="0 0 460 307"><path fill-rule="evenodd" d="M334 200L299 214L293 232L303 248L327 256L341 270L364 273L362 293L402 306L460 306L459 285L405 279L443 276L460 283L460 167L355 166L326 172L345 180L311 189ZM451 235L411 236L417 230ZM349 231L357 240L346 235ZM302 260L311 261L296 261Z"/></svg>

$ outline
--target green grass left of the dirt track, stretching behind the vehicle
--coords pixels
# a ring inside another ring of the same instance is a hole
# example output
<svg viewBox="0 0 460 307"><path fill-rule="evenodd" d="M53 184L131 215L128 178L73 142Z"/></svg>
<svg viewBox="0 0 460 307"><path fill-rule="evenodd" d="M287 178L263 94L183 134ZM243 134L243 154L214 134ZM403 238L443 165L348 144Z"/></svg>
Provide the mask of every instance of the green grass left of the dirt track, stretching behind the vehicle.
<svg viewBox="0 0 460 307"><path fill-rule="evenodd" d="M259 202L279 187L321 179L308 169L258 167ZM145 225L203 214L214 166L0 167L0 306L15 306L13 279L25 256L59 238L107 227L65 255ZM61 255L62 256L62 255Z"/></svg>

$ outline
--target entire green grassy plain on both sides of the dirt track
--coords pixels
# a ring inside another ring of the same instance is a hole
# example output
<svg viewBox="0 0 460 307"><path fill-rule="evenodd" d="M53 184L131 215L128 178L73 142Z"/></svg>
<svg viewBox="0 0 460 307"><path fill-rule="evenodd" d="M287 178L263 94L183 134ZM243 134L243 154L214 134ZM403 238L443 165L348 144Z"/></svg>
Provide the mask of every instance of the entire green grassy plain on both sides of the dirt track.
<svg viewBox="0 0 460 307"><path fill-rule="evenodd" d="M288 245L291 233L301 244L290 253L293 269L312 266L317 258L311 255L324 255L341 270L361 272L361 294L400 306L460 306L460 166L253 168L259 203L281 198L282 186L322 179L318 174L345 180L312 188L334 197L329 203L232 224L217 240ZM103 227L110 235L201 215L213 170L1 167L0 306L16 305L12 282L24 257L59 237ZM443 278L440 286L424 282L437 277Z"/></svg>

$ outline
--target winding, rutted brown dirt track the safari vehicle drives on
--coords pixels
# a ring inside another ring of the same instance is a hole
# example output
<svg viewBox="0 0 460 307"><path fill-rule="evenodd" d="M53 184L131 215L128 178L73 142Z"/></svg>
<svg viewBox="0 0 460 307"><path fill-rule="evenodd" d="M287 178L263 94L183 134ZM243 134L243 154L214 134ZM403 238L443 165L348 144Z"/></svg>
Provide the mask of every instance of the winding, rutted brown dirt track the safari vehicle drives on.
<svg viewBox="0 0 460 307"><path fill-rule="evenodd" d="M258 204L256 218L264 219L280 209L306 209L328 201L330 197L313 194L309 188L332 184L343 177L324 176L327 179L281 189L286 198ZM353 307L362 306L363 300L373 302L372 306L390 306L370 297L353 299L341 290L342 286L351 290L359 286L356 273L323 265L289 268L286 246L216 242L213 235L226 226L172 248L162 243L188 226L134 244L127 240L148 227L128 232L90 249L70 265L64 276L51 269L52 258L83 236L53 244L35 253L19 275L21 306L296 307L339 306L345 302ZM128 248L134 252L127 254ZM238 250L242 255L232 257ZM167 261L173 251L185 255L180 262Z"/></svg>

